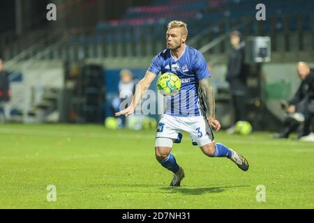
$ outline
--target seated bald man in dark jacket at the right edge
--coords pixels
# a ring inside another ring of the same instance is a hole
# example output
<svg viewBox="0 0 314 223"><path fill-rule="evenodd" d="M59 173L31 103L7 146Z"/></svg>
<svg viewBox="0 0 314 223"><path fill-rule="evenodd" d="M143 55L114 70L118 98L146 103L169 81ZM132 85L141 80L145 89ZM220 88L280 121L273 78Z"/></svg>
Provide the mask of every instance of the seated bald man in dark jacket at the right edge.
<svg viewBox="0 0 314 223"><path fill-rule="evenodd" d="M309 68L308 64L299 62L297 73L301 79L301 84L294 97L287 102L287 116L283 130L275 134L274 138L288 138L302 123L303 128L301 128L298 138L314 138L314 136L311 137L313 134L311 125L314 121L314 70Z"/></svg>

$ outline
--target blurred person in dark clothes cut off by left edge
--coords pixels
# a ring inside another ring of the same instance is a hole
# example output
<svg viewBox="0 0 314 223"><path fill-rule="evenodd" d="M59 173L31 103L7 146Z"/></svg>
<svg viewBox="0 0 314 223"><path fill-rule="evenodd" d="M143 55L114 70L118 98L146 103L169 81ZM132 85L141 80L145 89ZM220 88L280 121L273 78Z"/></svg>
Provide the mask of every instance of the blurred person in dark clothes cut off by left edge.
<svg viewBox="0 0 314 223"><path fill-rule="evenodd" d="M3 60L0 56L0 122L8 121L10 118L10 84L9 73L4 70Z"/></svg>

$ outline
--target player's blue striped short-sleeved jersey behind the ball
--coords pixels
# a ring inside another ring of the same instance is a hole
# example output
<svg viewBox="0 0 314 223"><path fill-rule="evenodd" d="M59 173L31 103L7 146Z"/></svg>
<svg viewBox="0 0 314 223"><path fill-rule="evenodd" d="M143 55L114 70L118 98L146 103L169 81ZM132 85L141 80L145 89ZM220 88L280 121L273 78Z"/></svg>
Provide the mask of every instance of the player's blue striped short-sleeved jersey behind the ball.
<svg viewBox="0 0 314 223"><path fill-rule="evenodd" d="M204 56L186 45L183 54L174 59L170 49L160 52L151 61L148 71L158 75L172 72L181 80L181 91L168 96L165 114L172 116L204 116L206 106L199 89L201 79L211 77Z"/></svg>

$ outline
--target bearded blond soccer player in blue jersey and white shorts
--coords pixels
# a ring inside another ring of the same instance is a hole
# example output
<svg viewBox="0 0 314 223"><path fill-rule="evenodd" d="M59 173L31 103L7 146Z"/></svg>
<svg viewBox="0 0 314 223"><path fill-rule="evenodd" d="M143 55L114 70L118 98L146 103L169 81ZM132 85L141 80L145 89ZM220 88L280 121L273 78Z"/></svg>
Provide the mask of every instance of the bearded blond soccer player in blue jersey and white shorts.
<svg viewBox="0 0 314 223"><path fill-rule="evenodd" d="M188 29L184 22L172 21L167 26L167 49L160 52L152 61L144 78L139 82L130 106L116 116L129 116L143 93L149 89L159 72L172 72L181 79L181 91L167 97L165 114L160 118L155 141L156 160L174 176L170 186L179 186L184 178L184 169L179 167L171 149L173 143L181 141L181 131L190 133L193 144L197 144L209 157L227 157L243 171L248 170L246 159L227 146L215 143L211 129L220 130L220 123L215 118L215 100L207 68L207 63L200 52L186 45ZM193 97L184 97L192 93ZM185 98L185 100L182 100Z"/></svg>

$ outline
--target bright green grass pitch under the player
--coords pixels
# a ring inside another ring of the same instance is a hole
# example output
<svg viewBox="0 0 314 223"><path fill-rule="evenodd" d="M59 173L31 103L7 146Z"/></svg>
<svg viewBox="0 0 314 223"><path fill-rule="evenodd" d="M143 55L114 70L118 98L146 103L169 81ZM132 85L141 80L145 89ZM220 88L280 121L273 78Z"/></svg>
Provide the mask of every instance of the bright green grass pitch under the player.
<svg viewBox="0 0 314 223"><path fill-rule="evenodd" d="M154 131L98 125L0 125L0 208L314 208L314 144L215 134L244 155L241 171L210 158L188 134L172 153L184 167L181 187L155 160ZM47 185L57 201L46 199ZM257 202L257 185L266 201Z"/></svg>

